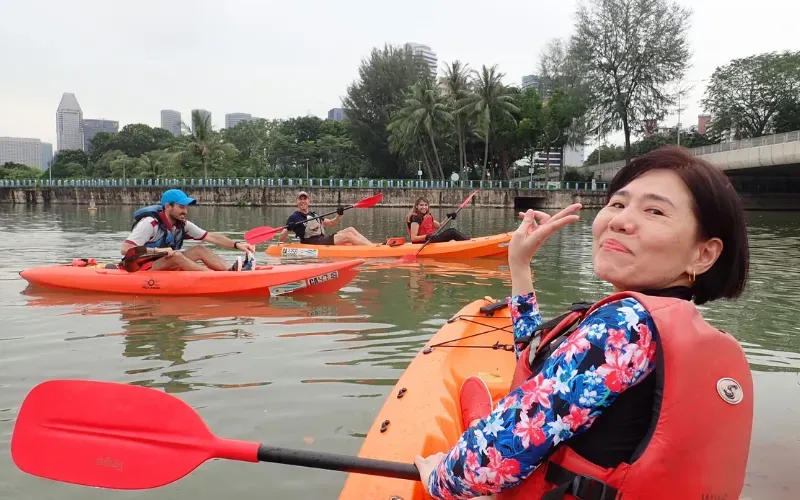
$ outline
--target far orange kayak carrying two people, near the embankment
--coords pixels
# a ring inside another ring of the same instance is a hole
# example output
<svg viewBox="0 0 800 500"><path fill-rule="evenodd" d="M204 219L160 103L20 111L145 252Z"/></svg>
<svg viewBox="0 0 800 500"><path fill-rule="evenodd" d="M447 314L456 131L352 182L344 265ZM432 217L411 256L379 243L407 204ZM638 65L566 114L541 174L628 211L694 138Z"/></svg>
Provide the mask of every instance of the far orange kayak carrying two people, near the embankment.
<svg viewBox="0 0 800 500"><path fill-rule="evenodd" d="M419 257L440 257L447 259L473 259L508 255L508 243L513 233L501 233L492 236L481 236L467 241L446 241L429 243ZM422 244L406 242L402 245L389 246L385 243L374 245L304 245L302 243L278 243L266 249L267 255L273 257L361 257L386 258L414 255Z"/></svg>

